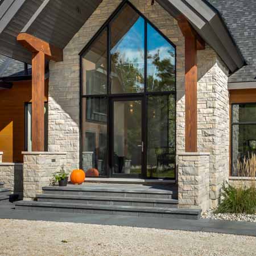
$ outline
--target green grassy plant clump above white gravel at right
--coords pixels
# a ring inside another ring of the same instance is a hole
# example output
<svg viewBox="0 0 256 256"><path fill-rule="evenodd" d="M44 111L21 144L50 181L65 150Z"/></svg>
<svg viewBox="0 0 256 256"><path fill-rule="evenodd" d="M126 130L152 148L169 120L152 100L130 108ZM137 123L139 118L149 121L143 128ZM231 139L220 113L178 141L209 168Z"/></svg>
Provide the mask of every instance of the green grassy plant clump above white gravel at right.
<svg viewBox="0 0 256 256"><path fill-rule="evenodd" d="M222 197L216 213L247 213L256 212L256 189L255 186L249 188L236 188L232 185L222 187Z"/></svg>

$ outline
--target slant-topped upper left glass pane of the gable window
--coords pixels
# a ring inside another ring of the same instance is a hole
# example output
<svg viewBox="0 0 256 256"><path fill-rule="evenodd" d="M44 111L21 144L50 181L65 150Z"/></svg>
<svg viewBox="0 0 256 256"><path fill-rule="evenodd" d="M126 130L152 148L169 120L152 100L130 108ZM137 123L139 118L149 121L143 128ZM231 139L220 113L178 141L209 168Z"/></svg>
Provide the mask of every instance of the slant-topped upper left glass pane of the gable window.
<svg viewBox="0 0 256 256"><path fill-rule="evenodd" d="M82 94L106 94L107 30L98 36L82 57Z"/></svg>

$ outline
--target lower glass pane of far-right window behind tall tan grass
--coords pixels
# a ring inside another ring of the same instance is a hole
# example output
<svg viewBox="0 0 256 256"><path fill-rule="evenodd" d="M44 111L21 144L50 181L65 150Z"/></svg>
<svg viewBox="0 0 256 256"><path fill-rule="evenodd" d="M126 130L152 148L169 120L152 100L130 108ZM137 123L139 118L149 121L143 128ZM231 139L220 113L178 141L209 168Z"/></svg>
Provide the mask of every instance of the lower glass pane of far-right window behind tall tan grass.
<svg viewBox="0 0 256 256"><path fill-rule="evenodd" d="M250 176L242 168L244 159L256 154L256 125L232 126L232 176Z"/></svg>

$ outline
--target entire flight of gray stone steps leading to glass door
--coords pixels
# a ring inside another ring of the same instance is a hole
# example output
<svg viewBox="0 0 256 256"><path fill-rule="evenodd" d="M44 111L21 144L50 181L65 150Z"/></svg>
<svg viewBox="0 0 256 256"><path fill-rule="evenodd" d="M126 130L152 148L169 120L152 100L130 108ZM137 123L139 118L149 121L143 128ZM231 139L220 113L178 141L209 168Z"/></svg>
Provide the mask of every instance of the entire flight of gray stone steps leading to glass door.
<svg viewBox="0 0 256 256"><path fill-rule="evenodd" d="M174 185L82 184L43 187L38 201L18 201L15 209L117 214L136 217L200 218L201 210L178 209Z"/></svg>

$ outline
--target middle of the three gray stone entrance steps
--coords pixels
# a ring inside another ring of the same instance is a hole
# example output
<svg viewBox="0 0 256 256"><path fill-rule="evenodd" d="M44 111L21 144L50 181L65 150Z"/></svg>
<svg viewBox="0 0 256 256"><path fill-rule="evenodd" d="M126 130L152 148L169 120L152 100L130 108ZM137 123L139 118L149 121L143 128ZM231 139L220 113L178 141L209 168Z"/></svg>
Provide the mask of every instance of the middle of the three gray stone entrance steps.
<svg viewBox="0 0 256 256"><path fill-rule="evenodd" d="M143 197L120 197L120 196L81 196L42 194L37 195L40 202L52 203L75 203L75 204L100 204L100 205L126 205L143 207L177 208L176 199L154 199Z"/></svg>

